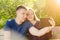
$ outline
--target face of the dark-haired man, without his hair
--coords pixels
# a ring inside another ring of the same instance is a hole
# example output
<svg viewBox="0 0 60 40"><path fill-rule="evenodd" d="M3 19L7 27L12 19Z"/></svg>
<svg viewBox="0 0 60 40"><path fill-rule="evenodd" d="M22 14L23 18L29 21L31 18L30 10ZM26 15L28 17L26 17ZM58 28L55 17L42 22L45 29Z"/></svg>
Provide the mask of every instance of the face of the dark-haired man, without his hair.
<svg viewBox="0 0 60 40"><path fill-rule="evenodd" d="M18 19L21 20L22 22L26 20L26 16L27 16L26 14L27 14L27 10L25 9L19 9L16 11L16 15Z"/></svg>

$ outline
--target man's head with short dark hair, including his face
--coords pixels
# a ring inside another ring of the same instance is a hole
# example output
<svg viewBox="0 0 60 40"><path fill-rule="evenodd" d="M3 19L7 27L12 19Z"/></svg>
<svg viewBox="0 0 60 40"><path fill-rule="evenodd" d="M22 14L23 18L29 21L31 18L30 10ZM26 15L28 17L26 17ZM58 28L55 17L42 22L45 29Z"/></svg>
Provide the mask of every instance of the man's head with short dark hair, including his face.
<svg viewBox="0 0 60 40"><path fill-rule="evenodd" d="M18 6L16 9L16 16L22 22L25 21L27 14L27 9L24 6Z"/></svg>

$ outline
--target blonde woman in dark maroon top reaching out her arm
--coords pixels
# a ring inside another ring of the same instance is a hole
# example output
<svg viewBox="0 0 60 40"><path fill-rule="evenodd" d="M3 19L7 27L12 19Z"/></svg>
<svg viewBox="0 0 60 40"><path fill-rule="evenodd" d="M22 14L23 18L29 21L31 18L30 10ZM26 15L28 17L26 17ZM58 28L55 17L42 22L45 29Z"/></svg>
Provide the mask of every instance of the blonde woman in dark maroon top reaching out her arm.
<svg viewBox="0 0 60 40"><path fill-rule="evenodd" d="M27 20L29 25L31 26L28 30L28 37L30 40L49 40L52 36L51 30L55 26L55 22L52 18L50 18L49 23L52 25L50 27L41 28L40 20L36 17L34 11L32 9L28 10Z"/></svg>

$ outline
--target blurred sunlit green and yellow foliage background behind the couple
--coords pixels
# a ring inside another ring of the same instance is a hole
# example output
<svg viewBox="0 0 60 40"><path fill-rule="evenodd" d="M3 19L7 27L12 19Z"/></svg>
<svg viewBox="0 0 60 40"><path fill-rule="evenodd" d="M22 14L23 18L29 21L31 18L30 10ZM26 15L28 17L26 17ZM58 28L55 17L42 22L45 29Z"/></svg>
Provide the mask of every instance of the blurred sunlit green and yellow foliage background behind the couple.
<svg viewBox="0 0 60 40"><path fill-rule="evenodd" d="M56 25L60 26L60 12L53 11L54 7L51 8L53 2L49 3L48 0L0 0L0 29L8 19L15 18L15 10L19 5L33 8L38 18L52 16Z"/></svg>

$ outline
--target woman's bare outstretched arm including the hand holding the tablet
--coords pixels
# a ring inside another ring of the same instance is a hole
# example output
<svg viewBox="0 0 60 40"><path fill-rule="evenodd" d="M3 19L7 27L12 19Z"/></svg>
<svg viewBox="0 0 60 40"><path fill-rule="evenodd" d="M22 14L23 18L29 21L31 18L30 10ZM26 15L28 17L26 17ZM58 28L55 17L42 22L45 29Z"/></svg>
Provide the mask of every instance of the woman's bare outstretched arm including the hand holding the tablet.
<svg viewBox="0 0 60 40"><path fill-rule="evenodd" d="M50 26L50 27L45 27L45 28L42 28L42 29L40 29L40 30L38 30L38 29L35 28L35 27L31 27L31 28L29 29L30 34L31 34L31 35L34 35L34 36L41 37L41 36L43 36L44 34L50 32L50 31L52 30L52 28L55 27L55 21L54 21L54 19L53 19L53 18L50 18L49 23L50 23L52 26Z"/></svg>

